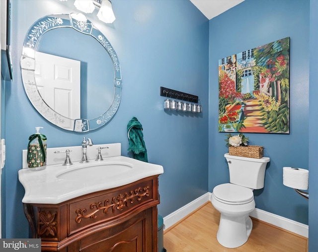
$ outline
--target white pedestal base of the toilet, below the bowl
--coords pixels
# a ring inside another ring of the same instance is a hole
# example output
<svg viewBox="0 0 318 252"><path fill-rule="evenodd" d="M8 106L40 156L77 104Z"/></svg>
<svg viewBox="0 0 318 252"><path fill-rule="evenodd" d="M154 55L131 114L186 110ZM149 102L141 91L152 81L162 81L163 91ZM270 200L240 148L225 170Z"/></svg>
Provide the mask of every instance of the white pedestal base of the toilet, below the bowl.
<svg viewBox="0 0 318 252"><path fill-rule="evenodd" d="M247 242L252 227L252 220L248 214L243 216L221 214L217 233L218 242L226 248L238 248Z"/></svg>

